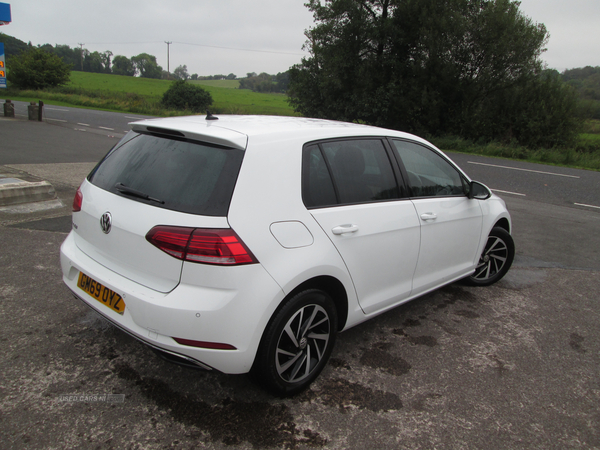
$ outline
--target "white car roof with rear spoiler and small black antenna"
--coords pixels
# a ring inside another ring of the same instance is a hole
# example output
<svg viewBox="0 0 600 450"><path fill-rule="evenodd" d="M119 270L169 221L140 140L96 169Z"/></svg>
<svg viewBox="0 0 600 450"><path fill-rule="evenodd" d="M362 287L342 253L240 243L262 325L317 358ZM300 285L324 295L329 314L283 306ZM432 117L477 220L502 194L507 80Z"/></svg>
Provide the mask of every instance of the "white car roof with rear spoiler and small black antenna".
<svg viewBox="0 0 600 450"><path fill-rule="evenodd" d="M394 136L427 143L416 136L395 130L334 120L289 116L223 114L215 120L208 120L204 115L169 117L133 122L131 127L133 131L186 137L242 150L246 149L250 140L310 142L352 136Z"/></svg>

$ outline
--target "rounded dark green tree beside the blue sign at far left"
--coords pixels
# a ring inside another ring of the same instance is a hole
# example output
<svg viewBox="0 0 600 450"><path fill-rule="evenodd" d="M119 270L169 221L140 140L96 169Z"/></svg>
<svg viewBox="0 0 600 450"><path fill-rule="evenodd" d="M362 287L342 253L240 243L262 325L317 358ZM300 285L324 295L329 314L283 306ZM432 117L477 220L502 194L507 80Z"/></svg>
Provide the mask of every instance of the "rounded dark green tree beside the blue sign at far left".
<svg viewBox="0 0 600 450"><path fill-rule="evenodd" d="M31 48L8 60L7 79L19 89L44 89L69 82L71 68L58 56Z"/></svg>

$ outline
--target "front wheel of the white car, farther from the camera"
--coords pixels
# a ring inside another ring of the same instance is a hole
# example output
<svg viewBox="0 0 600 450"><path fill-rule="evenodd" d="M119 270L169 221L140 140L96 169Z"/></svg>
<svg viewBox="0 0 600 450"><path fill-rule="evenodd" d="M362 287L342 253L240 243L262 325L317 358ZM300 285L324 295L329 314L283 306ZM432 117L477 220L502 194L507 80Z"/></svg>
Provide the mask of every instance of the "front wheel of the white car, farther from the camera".
<svg viewBox="0 0 600 450"><path fill-rule="evenodd" d="M465 281L473 286L489 286L500 280L515 257L515 243L504 228L492 228L475 272Z"/></svg>

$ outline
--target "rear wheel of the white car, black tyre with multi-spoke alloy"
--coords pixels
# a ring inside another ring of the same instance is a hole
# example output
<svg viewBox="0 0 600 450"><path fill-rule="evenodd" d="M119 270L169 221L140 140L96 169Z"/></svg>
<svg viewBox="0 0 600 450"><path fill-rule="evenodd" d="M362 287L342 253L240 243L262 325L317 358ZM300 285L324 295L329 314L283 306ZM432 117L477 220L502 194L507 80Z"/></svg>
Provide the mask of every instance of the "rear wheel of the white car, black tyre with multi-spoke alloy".
<svg viewBox="0 0 600 450"><path fill-rule="evenodd" d="M336 334L337 314L331 297L317 289L300 292L271 318L250 375L278 396L294 395L321 373Z"/></svg>

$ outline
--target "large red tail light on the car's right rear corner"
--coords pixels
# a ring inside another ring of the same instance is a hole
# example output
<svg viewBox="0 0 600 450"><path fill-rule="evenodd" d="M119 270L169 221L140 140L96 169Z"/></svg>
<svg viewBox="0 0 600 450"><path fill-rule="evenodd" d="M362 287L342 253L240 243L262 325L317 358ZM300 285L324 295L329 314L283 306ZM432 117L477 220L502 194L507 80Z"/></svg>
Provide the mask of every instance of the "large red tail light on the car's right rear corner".
<svg viewBox="0 0 600 450"><path fill-rule="evenodd" d="M163 252L183 261L234 266L258 262L230 228L187 228L157 226L146 240Z"/></svg>

